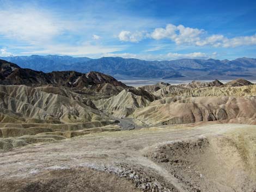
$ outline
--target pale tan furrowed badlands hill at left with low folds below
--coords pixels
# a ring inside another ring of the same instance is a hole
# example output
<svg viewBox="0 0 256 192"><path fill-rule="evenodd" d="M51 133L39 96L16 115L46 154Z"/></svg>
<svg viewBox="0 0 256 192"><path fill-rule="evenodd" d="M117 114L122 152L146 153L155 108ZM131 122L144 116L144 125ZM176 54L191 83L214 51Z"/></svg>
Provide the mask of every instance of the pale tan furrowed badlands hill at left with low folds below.
<svg viewBox="0 0 256 192"><path fill-rule="evenodd" d="M2 149L120 130L83 95L48 86L0 85L0 122Z"/></svg>

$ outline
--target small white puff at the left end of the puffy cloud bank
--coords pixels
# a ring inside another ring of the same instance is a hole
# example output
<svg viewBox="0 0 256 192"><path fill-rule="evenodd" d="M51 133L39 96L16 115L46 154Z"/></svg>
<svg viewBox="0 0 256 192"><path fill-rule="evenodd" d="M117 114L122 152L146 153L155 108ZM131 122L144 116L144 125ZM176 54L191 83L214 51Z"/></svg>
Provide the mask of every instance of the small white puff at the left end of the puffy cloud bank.
<svg viewBox="0 0 256 192"><path fill-rule="evenodd" d="M147 35L144 31L131 33L127 30L123 30L119 33L118 38L120 41L139 42L144 39Z"/></svg>

